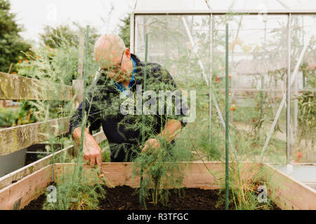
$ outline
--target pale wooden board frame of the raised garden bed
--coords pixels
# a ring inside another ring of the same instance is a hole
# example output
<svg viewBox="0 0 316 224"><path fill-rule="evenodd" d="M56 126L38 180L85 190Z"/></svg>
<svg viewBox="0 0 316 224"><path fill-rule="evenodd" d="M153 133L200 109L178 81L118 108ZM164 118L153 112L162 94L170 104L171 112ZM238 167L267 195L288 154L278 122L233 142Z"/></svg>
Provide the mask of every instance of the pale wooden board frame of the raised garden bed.
<svg viewBox="0 0 316 224"><path fill-rule="evenodd" d="M225 181L225 165L221 162L183 162L185 168L182 185L185 188L219 189ZM22 209L32 200L46 191L46 187L58 176L74 164L46 165L27 176L20 175L13 183L8 183L8 177L0 179L0 209ZM85 171L89 168L85 165ZM206 168L207 167L207 168ZM108 187L140 186L139 177L132 178L133 163L131 162L105 162L102 171L107 180ZM209 172L209 170L216 176ZM20 173L25 173L25 169ZM281 209L316 209L316 190L300 183L287 174L279 172L267 163L244 162L240 168L242 179L251 179L261 173L266 181L268 197ZM18 172L19 173L19 172ZM15 174L15 176L19 176ZM220 180L218 180L220 179Z"/></svg>

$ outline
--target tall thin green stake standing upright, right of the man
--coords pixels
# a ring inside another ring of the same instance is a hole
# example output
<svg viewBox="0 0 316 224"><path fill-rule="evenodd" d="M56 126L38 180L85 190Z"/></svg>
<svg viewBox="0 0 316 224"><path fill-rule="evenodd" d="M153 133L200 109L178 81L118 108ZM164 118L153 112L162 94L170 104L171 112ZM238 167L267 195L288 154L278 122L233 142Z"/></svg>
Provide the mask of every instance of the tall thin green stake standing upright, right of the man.
<svg viewBox="0 0 316 224"><path fill-rule="evenodd" d="M229 207L229 160L228 160L228 22L226 22L226 54L225 54L225 210Z"/></svg>

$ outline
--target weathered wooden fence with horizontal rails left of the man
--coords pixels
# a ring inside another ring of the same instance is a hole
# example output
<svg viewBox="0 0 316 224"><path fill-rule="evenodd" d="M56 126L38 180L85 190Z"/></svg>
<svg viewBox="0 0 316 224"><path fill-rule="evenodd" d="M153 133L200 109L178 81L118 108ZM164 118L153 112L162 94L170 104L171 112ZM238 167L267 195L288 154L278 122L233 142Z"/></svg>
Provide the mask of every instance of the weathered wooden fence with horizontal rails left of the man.
<svg viewBox="0 0 316 224"><path fill-rule="evenodd" d="M73 80L72 85L61 85L0 72L0 99L72 101L74 107L77 107L79 102L82 101L82 87L82 80ZM56 94L56 90L58 90L58 94ZM0 130L0 157L34 144L39 144L48 140L52 135L57 137L60 134L66 134L69 130L69 123L70 117L66 117L4 128ZM98 143L106 139L103 131L94 134L93 137ZM60 155L73 149L74 146L68 146L55 153L55 155ZM52 154L48 155L41 160L1 177L0 189L45 167L51 162L52 158Z"/></svg>

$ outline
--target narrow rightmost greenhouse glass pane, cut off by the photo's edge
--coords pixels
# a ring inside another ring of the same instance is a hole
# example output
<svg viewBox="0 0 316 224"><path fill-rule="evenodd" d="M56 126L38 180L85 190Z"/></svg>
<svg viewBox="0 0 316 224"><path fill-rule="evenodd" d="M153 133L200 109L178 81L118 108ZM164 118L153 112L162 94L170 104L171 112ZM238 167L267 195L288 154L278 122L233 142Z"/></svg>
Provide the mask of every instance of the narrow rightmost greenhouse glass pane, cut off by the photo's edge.
<svg viewBox="0 0 316 224"><path fill-rule="evenodd" d="M291 161L316 162L316 16L291 17ZM307 44L298 72L294 67Z"/></svg>

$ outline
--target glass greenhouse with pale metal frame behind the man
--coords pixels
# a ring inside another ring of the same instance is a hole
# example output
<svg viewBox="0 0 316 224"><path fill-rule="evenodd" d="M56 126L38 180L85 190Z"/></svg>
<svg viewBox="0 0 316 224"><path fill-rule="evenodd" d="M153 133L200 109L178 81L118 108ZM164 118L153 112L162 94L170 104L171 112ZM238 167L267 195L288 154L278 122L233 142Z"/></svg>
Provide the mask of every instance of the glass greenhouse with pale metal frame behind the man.
<svg viewBox="0 0 316 224"><path fill-rule="evenodd" d="M315 127L311 124L315 114L299 113L303 107L298 99L312 98L315 93L315 6L312 10L312 1L301 6L296 1L255 2L225 1L223 7L213 1L211 8L205 1L195 1L192 8L180 1L173 1L174 6L138 1L131 17L131 49L145 55L148 33L150 61L164 64L182 81L189 75L200 76L201 85L211 86L206 91L219 94L225 86L220 84L225 83L225 20L229 19L230 105L239 109L232 109L230 122L237 132L258 123L256 135L265 142L262 153L273 147L270 138L274 136L283 141L279 146L282 162L295 162L296 152L304 151L300 163L315 163ZM193 66L183 71L184 64ZM218 98L211 95L209 104L210 115L217 113L212 116L216 120L223 114L223 110L216 111ZM211 121L210 128L215 122Z"/></svg>

